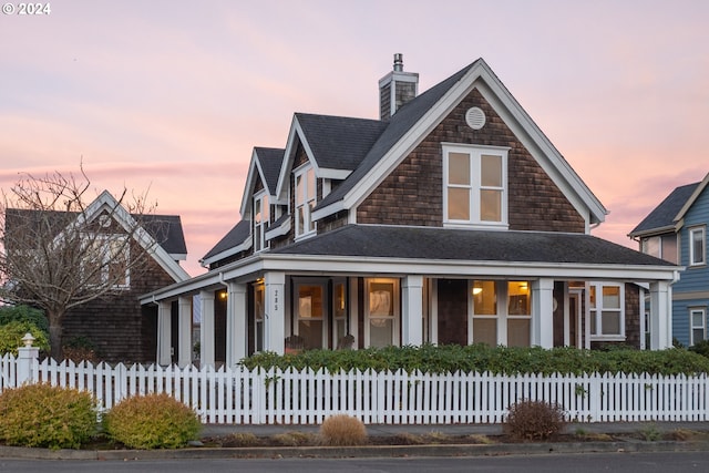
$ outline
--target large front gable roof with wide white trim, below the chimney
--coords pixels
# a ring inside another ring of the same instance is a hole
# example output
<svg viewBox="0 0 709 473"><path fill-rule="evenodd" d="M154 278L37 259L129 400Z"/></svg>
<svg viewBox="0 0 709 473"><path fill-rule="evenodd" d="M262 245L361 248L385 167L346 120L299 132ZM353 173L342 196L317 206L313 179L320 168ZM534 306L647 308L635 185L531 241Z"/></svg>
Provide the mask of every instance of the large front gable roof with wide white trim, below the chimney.
<svg viewBox="0 0 709 473"><path fill-rule="evenodd" d="M318 203L314 218L357 206L474 88L481 91L579 214L589 224L603 222L606 208L482 59L403 105L391 117L361 165Z"/></svg>

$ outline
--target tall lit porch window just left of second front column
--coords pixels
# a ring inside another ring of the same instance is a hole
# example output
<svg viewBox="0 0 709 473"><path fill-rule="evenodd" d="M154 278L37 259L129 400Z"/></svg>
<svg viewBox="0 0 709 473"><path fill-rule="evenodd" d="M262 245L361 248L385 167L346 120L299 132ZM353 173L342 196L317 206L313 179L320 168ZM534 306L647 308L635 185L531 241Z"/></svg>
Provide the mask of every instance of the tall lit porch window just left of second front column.
<svg viewBox="0 0 709 473"><path fill-rule="evenodd" d="M364 281L364 343L367 347L399 345L399 279L373 278Z"/></svg>

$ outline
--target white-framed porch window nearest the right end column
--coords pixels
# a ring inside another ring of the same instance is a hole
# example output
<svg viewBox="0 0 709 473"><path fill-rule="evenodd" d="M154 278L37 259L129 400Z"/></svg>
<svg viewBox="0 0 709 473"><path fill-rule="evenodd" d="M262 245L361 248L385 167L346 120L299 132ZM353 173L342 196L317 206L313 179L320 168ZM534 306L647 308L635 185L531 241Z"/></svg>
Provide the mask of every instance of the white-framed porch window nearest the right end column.
<svg viewBox="0 0 709 473"><path fill-rule="evenodd" d="M590 338L625 340L625 286L617 282L592 282L588 299Z"/></svg>

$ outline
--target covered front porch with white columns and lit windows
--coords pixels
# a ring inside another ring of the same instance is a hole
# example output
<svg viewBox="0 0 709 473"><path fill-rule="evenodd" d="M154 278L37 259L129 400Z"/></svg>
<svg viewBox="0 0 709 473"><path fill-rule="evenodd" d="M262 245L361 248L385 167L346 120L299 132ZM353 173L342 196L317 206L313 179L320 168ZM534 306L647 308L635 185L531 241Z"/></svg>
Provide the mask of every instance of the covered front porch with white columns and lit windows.
<svg viewBox="0 0 709 473"><path fill-rule="evenodd" d="M249 259L142 299L157 305L160 364L193 362L195 309L202 366L234 366L258 351L427 342L671 346L674 273L666 269Z"/></svg>

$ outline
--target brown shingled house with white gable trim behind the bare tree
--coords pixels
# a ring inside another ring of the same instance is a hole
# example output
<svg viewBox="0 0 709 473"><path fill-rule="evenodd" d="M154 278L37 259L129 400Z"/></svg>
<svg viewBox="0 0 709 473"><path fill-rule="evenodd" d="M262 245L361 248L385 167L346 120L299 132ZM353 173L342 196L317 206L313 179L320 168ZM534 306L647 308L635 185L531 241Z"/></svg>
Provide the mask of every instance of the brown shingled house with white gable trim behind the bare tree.
<svg viewBox="0 0 709 473"><path fill-rule="evenodd" d="M187 254L179 216L132 215L107 191L80 213L7 209L6 236L10 236L7 238L10 244L14 240L11 237L13 232L31 236L44 233L47 228L55 240L82 235L83 244L109 248L115 246L115 251L125 256L125 259L114 258L114 263L103 266L100 274L92 276L96 286L112 278L111 290L100 298L72 307L64 315L62 345L82 338L95 348L101 360L154 361L157 318L141 306L138 296L189 278L178 263ZM83 238L85 235L91 237ZM38 240L45 241L44 238L42 236ZM86 243L89 238L91 243ZM132 240L126 241L126 238ZM75 251L69 248L66 253L63 249L61 251L56 259L75 263ZM96 254L107 258L113 253L113 249L107 249L97 250ZM145 253L147 255L143 257ZM140 260L140 268L135 265L132 267L132 259ZM66 275L71 277L81 270L70 268ZM72 305L79 298L89 299L88 295L73 298Z"/></svg>

